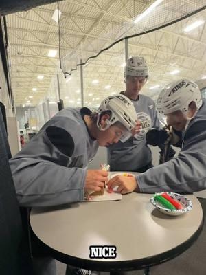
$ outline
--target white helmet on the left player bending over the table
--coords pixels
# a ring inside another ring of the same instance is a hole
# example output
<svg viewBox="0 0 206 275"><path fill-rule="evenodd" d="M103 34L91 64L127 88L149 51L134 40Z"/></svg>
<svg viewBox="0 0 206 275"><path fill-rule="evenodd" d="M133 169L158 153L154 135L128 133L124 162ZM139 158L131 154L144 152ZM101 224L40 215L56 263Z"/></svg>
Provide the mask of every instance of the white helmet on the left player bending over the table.
<svg viewBox="0 0 206 275"><path fill-rule="evenodd" d="M102 129L100 125L100 116L103 111L111 111L111 117L106 121L107 126L104 129ZM98 108L97 125L101 131L105 131L111 125L115 124L115 122L121 122L127 129L124 136L120 139L122 142L125 142L131 137L131 131L137 123L137 113L133 102L131 102L128 97L124 96L124 94L108 96L108 98L102 101Z"/></svg>

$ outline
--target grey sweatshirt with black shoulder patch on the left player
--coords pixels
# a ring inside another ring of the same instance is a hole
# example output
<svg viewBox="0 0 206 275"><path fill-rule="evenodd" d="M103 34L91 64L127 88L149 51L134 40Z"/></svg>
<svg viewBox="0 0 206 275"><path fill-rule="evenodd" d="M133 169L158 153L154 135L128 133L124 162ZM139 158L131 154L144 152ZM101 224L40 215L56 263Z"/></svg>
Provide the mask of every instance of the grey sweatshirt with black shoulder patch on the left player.
<svg viewBox="0 0 206 275"><path fill-rule="evenodd" d="M84 197L87 164L98 150L82 116L87 108L57 113L12 159L21 206L55 206Z"/></svg>

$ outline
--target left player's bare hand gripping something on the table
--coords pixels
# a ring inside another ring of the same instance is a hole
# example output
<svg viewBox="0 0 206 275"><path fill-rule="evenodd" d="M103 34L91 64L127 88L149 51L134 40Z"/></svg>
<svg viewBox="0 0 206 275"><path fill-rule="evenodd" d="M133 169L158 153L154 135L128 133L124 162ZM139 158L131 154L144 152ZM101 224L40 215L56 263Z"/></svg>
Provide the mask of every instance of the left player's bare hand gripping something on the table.
<svg viewBox="0 0 206 275"><path fill-rule="evenodd" d="M104 170L87 170L84 190L100 191L108 181L108 172Z"/></svg>

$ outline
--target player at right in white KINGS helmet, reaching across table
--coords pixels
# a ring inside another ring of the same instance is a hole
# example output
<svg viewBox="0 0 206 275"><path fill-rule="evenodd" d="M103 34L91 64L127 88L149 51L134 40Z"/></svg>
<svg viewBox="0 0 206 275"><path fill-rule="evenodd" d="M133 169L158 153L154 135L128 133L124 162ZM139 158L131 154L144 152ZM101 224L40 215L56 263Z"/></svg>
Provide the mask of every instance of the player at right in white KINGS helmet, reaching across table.
<svg viewBox="0 0 206 275"><path fill-rule="evenodd" d="M114 177L108 187L119 186L130 192L136 182L137 192L197 192L206 188L206 102L198 86L179 80L166 86L157 99L157 110L166 116L168 125L182 133L179 155L151 168L137 177ZM173 139L172 134L167 137ZM165 140L168 142L168 140Z"/></svg>

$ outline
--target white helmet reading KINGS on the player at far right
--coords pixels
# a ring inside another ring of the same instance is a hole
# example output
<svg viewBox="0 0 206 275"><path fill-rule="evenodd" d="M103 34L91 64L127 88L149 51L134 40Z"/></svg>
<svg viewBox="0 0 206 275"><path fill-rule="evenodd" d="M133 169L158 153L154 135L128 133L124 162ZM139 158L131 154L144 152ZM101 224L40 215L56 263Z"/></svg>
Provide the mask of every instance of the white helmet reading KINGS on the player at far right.
<svg viewBox="0 0 206 275"><path fill-rule="evenodd" d="M165 86L157 98L157 111L168 115L174 111L187 113L189 104L195 102L200 109L203 104L201 91L196 83L181 79Z"/></svg>

